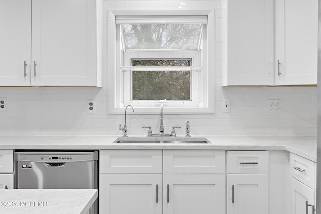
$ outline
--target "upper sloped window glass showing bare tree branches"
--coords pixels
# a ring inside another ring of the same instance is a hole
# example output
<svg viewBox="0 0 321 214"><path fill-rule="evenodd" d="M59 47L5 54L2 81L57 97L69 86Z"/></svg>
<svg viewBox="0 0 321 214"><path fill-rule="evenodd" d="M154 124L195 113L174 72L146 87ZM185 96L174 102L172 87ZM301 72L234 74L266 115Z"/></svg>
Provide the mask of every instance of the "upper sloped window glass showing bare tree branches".
<svg viewBox="0 0 321 214"><path fill-rule="evenodd" d="M201 24L122 24L126 49L196 50Z"/></svg>

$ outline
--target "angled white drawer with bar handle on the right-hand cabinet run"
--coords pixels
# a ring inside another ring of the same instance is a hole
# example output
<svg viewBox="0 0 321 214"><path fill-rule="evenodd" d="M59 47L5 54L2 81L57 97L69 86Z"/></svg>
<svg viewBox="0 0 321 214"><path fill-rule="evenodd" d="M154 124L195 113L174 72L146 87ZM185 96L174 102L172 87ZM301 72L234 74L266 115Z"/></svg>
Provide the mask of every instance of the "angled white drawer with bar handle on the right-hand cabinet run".
<svg viewBox="0 0 321 214"><path fill-rule="evenodd" d="M290 174L305 185L315 189L315 163L296 154L290 154Z"/></svg>

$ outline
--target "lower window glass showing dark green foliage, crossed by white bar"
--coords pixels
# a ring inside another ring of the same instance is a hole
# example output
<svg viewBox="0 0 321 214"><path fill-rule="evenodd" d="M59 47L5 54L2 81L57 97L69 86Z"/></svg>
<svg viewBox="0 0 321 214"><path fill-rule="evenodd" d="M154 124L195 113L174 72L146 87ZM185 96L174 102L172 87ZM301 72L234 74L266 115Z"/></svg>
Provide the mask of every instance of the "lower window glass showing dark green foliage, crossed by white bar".
<svg viewBox="0 0 321 214"><path fill-rule="evenodd" d="M133 66L190 66L191 60L133 60ZM191 71L132 71L132 100L191 100Z"/></svg>

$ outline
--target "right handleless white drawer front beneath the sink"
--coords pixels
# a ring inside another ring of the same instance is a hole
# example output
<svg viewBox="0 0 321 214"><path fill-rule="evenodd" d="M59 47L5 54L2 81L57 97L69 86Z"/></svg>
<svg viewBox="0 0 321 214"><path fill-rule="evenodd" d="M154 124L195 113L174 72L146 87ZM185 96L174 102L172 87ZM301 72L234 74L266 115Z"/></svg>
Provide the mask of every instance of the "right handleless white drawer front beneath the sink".
<svg viewBox="0 0 321 214"><path fill-rule="evenodd" d="M225 173L225 151L165 150L164 173Z"/></svg>

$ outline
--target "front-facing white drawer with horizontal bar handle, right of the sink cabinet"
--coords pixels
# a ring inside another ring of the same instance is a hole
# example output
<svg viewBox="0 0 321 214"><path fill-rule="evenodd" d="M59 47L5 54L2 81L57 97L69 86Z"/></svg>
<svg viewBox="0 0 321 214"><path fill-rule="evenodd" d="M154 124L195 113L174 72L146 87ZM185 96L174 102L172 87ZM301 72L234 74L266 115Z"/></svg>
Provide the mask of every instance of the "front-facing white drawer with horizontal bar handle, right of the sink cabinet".
<svg viewBox="0 0 321 214"><path fill-rule="evenodd" d="M268 151L228 151L227 173L229 174L268 174Z"/></svg>

